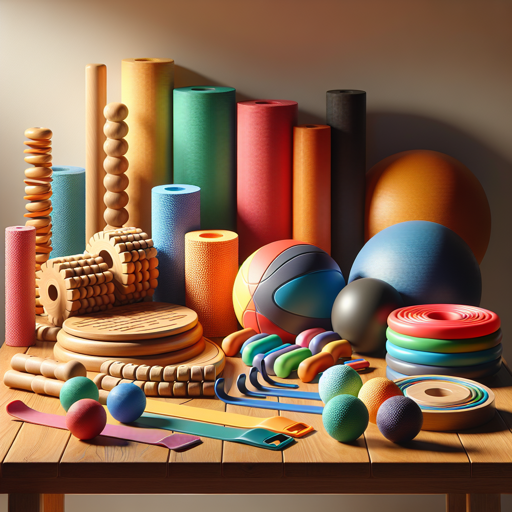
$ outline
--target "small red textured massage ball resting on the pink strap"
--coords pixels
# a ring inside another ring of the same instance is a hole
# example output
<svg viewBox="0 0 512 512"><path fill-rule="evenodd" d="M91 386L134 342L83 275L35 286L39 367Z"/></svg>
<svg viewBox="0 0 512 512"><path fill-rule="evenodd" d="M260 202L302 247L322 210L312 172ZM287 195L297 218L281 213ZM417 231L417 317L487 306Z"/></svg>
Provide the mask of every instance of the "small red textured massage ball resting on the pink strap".
<svg viewBox="0 0 512 512"><path fill-rule="evenodd" d="M101 403L83 398L73 403L66 414L66 426L78 439L92 439L106 425L106 412Z"/></svg>

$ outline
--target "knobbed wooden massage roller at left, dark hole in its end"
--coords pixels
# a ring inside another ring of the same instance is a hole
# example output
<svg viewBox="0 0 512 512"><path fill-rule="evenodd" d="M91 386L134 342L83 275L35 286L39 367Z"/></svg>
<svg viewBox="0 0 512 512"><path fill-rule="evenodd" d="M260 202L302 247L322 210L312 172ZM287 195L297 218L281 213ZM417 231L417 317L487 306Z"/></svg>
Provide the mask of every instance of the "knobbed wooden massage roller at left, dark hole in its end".
<svg viewBox="0 0 512 512"><path fill-rule="evenodd" d="M58 327L70 316L111 309L115 302L113 274L98 255L53 258L36 272L40 304Z"/></svg>

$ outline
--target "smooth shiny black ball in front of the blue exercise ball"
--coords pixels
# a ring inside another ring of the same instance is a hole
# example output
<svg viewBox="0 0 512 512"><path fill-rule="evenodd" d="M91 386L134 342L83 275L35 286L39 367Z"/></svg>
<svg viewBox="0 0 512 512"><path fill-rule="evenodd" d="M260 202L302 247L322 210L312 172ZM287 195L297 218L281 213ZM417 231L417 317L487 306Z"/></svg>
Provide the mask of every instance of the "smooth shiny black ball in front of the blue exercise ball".
<svg viewBox="0 0 512 512"><path fill-rule="evenodd" d="M360 354L383 350L388 316L402 306L400 294L385 281L357 279L338 293L332 306L332 329Z"/></svg>

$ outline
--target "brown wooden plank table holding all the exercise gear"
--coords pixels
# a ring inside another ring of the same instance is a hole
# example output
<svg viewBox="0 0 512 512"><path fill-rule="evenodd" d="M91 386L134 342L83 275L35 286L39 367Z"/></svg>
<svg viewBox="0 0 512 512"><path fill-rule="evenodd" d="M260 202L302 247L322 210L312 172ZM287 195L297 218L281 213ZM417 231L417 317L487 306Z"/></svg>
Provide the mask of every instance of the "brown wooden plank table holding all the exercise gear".
<svg viewBox="0 0 512 512"><path fill-rule="evenodd" d="M53 356L53 343L0 349L0 375L13 354ZM363 380L385 375L385 361L369 358ZM228 358L224 377L230 394L240 396L236 377L248 368ZM91 373L92 377L94 373ZM296 381L295 381L296 382ZM500 510L500 493L512 492L512 376L505 366L485 382L496 394L497 414L478 428L460 433L421 431L402 445L385 439L369 424L364 436L342 444L327 435L322 417L283 413L316 432L284 452L271 452L203 438L176 453L108 437L79 441L67 431L13 421L6 404L63 414L57 398L0 385L0 493L9 494L10 512L62 512L64 494L446 494L449 512ZM249 385L250 386L250 385ZM302 385L316 391L317 385ZM276 411L226 406L217 399L162 399L267 417ZM274 399L275 400L275 399ZM309 400L282 401L314 403ZM168 433L167 433L168 434Z"/></svg>

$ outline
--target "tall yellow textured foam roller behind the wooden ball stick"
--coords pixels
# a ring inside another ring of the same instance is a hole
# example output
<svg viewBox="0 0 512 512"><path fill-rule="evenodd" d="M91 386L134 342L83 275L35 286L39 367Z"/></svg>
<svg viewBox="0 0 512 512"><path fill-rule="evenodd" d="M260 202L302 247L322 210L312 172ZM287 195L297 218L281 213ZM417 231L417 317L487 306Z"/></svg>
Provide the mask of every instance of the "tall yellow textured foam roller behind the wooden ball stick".
<svg viewBox="0 0 512 512"><path fill-rule="evenodd" d="M151 189L173 182L174 60L123 59L121 101L128 108L126 158L130 224L151 236Z"/></svg>

